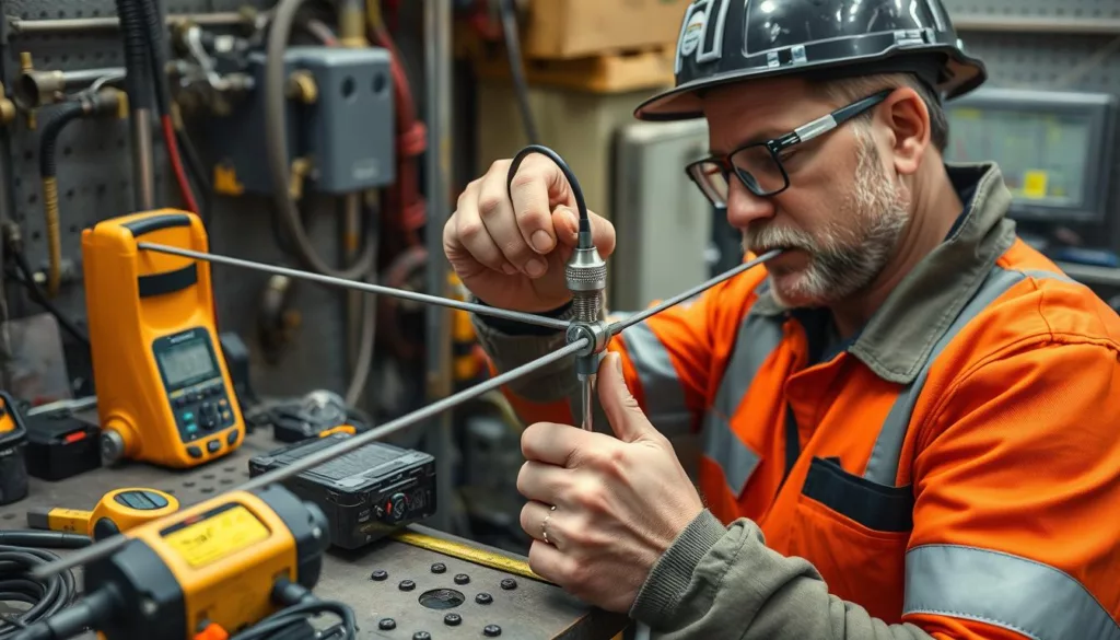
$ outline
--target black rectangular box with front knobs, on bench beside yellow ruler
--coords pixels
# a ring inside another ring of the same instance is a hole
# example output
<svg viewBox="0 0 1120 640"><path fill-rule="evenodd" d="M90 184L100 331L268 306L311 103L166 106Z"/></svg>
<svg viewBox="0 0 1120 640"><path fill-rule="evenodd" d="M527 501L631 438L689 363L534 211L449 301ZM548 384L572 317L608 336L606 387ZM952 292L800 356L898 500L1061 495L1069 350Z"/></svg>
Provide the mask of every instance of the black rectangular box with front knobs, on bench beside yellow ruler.
<svg viewBox="0 0 1120 640"><path fill-rule="evenodd" d="M349 434L289 445L249 461L250 476L288 466ZM282 484L314 502L330 522L330 544L357 549L436 512L436 458L385 443L371 443L299 473Z"/></svg>

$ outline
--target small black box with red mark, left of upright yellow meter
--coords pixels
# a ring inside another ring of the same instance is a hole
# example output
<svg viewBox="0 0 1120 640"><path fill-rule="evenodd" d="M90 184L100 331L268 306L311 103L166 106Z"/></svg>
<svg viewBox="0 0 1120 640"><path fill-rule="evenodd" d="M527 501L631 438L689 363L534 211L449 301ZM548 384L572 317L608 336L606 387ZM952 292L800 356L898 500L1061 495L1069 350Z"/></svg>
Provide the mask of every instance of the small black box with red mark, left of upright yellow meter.
<svg viewBox="0 0 1120 640"><path fill-rule="evenodd" d="M57 482L101 467L101 428L56 411L27 418L27 473Z"/></svg>

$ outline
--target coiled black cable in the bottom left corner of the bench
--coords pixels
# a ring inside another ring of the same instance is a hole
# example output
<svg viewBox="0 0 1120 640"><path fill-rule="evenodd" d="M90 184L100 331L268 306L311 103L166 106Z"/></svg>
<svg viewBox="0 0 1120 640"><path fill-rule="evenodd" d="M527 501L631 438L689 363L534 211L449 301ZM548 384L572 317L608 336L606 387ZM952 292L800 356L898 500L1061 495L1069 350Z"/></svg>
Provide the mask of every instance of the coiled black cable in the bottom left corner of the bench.
<svg viewBox="0 0 1120 640"><path fill-rule="evenodd" d="M58 556L46 549L0 545L0 601L30 605L27 611L0 616L0 640L16 638L31 624L46 620L73 604L77 595L77 585L74 574L69 571L41 581L27 575L31 567L56 559Z"/></svg>

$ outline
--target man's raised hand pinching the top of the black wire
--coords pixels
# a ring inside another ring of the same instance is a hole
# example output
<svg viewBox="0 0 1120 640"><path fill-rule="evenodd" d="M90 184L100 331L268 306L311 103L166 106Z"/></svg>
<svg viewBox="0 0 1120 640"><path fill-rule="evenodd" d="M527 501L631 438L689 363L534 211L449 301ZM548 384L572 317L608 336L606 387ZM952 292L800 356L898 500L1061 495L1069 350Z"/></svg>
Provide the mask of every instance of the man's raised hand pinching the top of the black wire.
<svg viewBox="0 0 1120 640"><path fill-rule="evenodd" d="M444 226L444 252L459 280L486 304L541 313L571 298L563 267L576 247L579 214L560 168L532 154L506 187L511 160L467 185ZM512 197L511 197L512 194ZM599 254L615 250L615 229L594 213Z"/></svg>

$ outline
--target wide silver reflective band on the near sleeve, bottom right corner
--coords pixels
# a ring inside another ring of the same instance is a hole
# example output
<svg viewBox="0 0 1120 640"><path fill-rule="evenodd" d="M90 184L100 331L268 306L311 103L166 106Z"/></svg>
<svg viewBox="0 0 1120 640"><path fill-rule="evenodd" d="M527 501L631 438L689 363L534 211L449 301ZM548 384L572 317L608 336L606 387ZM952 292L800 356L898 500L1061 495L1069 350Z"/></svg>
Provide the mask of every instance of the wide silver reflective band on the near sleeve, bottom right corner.
<svg viewBox="0 0 1120 640"><path fill-rule="evenodd" d="M1120 625L1084 586L1042 563L955 545L906 554L903 615L978 620L1034 640L1120 640Z"/></svg>

